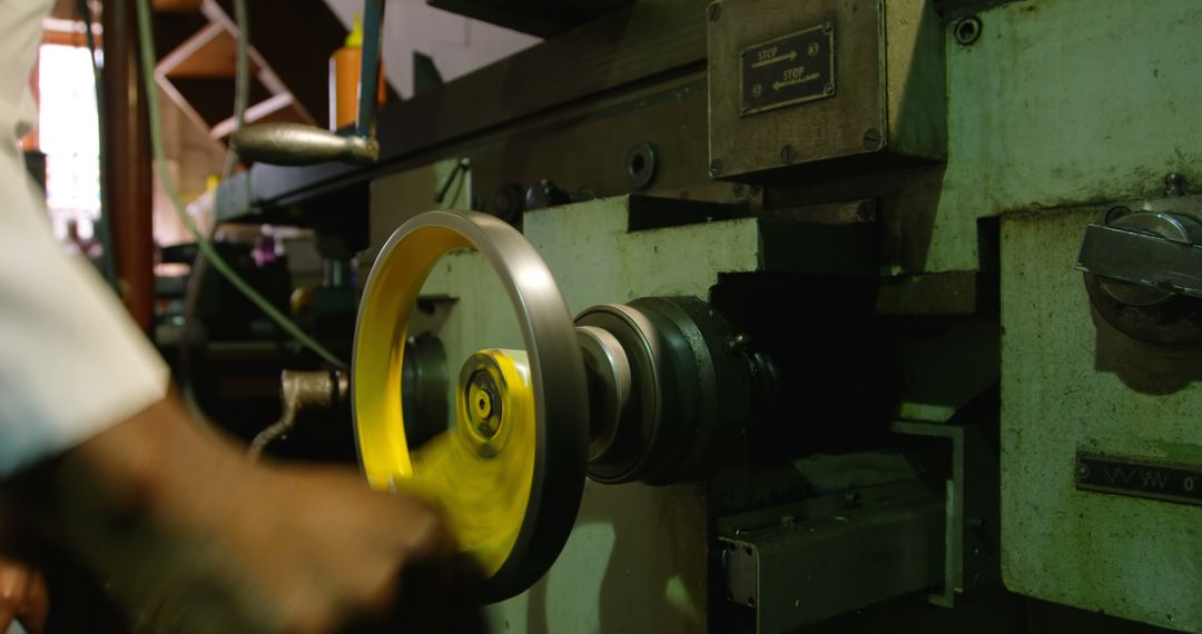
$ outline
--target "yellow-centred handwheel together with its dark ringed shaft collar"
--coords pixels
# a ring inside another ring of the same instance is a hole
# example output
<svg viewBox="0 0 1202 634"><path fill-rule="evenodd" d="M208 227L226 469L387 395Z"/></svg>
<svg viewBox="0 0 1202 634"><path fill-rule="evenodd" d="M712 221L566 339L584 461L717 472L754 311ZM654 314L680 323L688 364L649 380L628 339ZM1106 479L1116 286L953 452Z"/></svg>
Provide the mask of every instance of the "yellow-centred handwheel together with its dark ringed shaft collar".
<svg viewBox="0 0 1202 634"><path fill-rule="evenodd" d="M525 349L469 355L453 425L426 441L411 420L410 438L401 370L418 360L406 358L406 329L435 263L463 249L492 265ZM484 599L511 597L559 555L585 476L671 484L738 454L752 377L774 376L732 345L740 339L697 298L593 306L573 323L514 228L471 211L418 215L380 251L359 306L351 388L364 474L376 489L438 500L484 573Z"/></svg>

